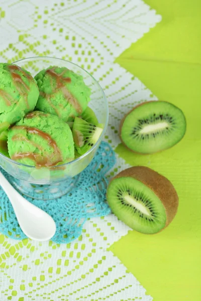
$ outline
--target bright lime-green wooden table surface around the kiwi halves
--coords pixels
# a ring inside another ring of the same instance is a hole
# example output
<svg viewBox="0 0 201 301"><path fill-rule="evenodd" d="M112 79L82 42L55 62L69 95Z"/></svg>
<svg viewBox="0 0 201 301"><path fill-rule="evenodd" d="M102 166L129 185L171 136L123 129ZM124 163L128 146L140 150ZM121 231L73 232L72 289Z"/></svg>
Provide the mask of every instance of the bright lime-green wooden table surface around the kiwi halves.
<svg viewBox="0 0 201 301"><path fill-rule="evenodd" d="M185 113L184 139L162 155L152 157L152 167L176 187L180 204L176 218L164 232L144 236L130 231L111 250L155 301L198 301L201 295L201 3L198 0L147 0L146 3L162 16L162 22L127 49L117 62L135 74L158 99L174 103ZM117 152L129 164L146 164L146 159L133 157L122 145Z"/></svg>

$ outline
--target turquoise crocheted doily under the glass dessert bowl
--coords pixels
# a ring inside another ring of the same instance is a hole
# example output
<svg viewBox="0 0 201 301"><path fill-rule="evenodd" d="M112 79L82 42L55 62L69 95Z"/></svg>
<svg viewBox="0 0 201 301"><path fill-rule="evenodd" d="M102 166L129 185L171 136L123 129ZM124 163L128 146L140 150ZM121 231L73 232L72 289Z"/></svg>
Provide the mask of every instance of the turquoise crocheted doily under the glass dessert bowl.
<svg viewBox="0 0 201 301"><path fill-rule="evenodd" d="M68 243L81 235L84 222L90 217L109 214L106 203L108 181L106 173L115 164L115 154L107 142L102 142L89 166L80 174L76 186L61 198L41 201L26 197L27 200L46 211L56 223L56 233L52 240ZM2 173L9 180L8 174ZM24 239L13 207L0 187L0 232L14 239Z"/></svg>

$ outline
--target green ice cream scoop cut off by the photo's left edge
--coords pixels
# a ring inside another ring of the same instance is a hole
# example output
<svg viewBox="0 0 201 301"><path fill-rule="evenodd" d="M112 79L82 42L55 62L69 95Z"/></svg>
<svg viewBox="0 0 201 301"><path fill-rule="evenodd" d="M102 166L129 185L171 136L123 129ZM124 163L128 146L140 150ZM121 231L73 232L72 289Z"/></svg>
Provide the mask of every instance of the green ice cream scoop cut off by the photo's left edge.
<svg viewBox="0 0 201 301"><path fill-rule="evenodd" d="M33 111L38 97L36 80L28 71L0 63L0 131Z"/></svg>

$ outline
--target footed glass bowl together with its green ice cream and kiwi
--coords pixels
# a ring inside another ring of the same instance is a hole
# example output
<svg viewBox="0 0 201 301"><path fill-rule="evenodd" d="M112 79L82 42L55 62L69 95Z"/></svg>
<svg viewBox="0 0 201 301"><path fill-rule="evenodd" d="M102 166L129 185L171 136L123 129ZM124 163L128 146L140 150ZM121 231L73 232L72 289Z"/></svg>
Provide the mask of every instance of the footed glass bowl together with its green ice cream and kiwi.
<svg viewBox="0 0 201 301"><path fill-rule="evenodd" d="M76 187L108 125L98 82L74 63L27 58L0 64L0 102L0 166L14 188L50 200Z"/></svg>

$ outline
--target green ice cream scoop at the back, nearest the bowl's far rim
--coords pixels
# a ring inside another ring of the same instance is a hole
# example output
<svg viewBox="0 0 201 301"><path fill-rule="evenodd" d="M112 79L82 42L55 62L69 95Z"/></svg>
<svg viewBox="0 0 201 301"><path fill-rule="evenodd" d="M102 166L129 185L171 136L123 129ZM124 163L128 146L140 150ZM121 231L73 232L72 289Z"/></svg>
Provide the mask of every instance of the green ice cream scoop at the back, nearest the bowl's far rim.
<svg viewBox="0 0 201 301"><path fill-rule="evenodd" d="M50 66L40 71L35 79L40 90L36 108L64 121L80 116L90 101L91 91L83 77L65 67Z"/></svg>

